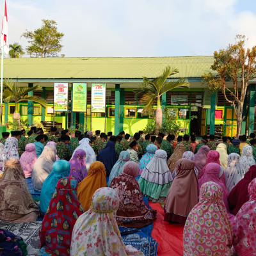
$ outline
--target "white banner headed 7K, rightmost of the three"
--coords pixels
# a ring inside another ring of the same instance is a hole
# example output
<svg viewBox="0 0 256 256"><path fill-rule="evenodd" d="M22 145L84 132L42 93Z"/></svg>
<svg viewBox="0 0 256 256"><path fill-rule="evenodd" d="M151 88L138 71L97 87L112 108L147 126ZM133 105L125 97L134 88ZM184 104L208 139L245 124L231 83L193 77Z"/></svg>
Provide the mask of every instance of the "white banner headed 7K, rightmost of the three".
<svg viewBox="0 0 256 256"><path fill-rule="evenodd" d="M92 84L92 112L106 112L106 84Z"/></svg>

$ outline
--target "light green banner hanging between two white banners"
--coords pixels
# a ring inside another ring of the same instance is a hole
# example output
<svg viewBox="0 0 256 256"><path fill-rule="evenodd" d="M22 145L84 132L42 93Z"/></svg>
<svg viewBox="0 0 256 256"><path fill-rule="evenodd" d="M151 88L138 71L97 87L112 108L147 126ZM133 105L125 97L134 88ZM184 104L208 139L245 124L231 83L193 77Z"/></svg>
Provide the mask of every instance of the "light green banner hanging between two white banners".
<svg viewBox="0 0 256 256"><path fill-rule="evenodd" d="M73 84L72 111L86 112L87 84Z"/></svg>

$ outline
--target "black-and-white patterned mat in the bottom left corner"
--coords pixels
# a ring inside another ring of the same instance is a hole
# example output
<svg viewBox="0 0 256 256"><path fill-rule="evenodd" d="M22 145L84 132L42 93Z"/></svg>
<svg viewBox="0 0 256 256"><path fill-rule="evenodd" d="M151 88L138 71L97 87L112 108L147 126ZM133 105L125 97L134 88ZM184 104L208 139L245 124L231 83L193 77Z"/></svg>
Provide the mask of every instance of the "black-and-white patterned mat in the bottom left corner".
<svg viewBox="0 0 256 256"><path fill-rule="evenodd" d="M24 243L27 244L28 256L38 256L39 253L39 228L42 222L27 222L27 223L11 223L0 220L0 228L8 230L16 236L22 237Z"/></svg>

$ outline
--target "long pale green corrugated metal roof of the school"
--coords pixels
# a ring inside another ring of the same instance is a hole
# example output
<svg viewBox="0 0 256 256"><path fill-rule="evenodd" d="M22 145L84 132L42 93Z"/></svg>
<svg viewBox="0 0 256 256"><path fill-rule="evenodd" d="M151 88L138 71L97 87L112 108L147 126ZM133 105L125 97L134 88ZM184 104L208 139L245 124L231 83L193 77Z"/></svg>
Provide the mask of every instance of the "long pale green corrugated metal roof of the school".
<svg viewBox="0 0 256 256"><path fill-rule="evenodd" d="M209 72L212 56L188 57L84 57L84 58L6 58L4 78L152 78L168 65L178 68L178 77L201 77Z"/></svg>

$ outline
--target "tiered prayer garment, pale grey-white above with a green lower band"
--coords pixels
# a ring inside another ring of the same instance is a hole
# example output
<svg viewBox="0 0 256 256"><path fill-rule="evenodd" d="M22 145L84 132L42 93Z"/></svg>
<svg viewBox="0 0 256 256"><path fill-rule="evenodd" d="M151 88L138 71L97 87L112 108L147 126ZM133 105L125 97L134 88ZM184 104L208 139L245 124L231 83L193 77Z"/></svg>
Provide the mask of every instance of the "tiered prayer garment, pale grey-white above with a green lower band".
<svg viewBox="0 0 256 256"><path fill-rule="evenodd" d="M141 173L139 184L143 195L155 200L165 198L172 184L172 173L166 164L167 153L156 150L155 156Z"/></svg>

